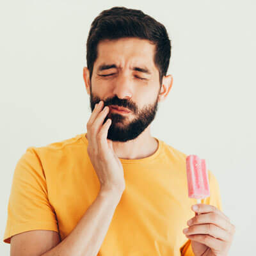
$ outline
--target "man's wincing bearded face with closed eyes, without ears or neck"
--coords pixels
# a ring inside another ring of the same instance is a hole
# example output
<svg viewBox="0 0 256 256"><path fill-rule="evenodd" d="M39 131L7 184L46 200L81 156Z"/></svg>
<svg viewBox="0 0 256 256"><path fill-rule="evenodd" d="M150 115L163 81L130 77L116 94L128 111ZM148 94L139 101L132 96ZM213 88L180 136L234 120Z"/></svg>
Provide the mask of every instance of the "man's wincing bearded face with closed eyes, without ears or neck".
<svg viewBox="0 0 256 256"><path fill-rule="evenodd" d="M90 81L90 108L93 111L95 104L103 100L104 106L115 105L131 111L109 110L103 122L112 120L109 140L134 140L156 116L160 84L153 61L154 49L155 45L139 38L105 40L98 44ZM113 67L102 68L102 65Z"/></svg>

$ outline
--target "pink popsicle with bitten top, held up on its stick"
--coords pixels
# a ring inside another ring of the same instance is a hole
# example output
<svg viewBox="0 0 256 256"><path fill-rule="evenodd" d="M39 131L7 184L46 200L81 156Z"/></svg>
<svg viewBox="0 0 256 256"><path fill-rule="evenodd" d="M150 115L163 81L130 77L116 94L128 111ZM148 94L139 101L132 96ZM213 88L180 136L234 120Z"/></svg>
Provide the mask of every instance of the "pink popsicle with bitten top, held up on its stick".
<svg viewBox="0 0 256 256"><path fill-rule="evenodd" d="M202 199L210 196L210 186L205 159L196 155L186 157L189 198Z"/></svg>

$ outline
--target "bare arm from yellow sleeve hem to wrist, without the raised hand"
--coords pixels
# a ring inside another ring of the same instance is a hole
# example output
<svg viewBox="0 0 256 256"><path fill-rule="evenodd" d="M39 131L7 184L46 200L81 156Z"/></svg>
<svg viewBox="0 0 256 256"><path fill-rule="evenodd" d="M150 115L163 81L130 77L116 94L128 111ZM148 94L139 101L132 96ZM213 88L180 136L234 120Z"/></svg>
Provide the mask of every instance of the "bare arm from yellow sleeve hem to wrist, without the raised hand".
<svg viewBox="0 0 256 256"><path fill-rule="evenodd" d="M61 243L55 231L22 232L11 239L11 256L96 256L121 196L116 189L100 188L93 204Z"/></svg>

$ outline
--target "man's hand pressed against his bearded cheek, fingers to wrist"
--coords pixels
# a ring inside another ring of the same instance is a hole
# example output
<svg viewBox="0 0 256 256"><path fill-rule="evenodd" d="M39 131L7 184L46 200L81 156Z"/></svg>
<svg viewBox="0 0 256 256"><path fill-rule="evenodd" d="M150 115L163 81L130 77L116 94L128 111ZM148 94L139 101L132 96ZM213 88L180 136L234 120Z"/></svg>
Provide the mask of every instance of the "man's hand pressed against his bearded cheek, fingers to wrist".
<svg viewBox="0 0 256 256"><path fill-rule="evenodd" d="M118 193L123 193L125 189L124 168L113 150L113 141L108 140L111 119L106 120L109 107L103 107L103 100L95 104L86 124L87 152L99 178L100 189L116 189ZM104 120L106 120L105 123Z"/></svg>

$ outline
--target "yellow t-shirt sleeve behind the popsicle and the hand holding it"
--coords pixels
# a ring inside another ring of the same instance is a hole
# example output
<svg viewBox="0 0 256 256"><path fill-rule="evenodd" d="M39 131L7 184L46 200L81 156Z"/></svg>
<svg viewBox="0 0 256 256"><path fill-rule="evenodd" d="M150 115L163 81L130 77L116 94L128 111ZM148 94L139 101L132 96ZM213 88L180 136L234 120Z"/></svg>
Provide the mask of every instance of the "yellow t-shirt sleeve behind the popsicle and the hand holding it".
<svg viewBox="0 0 256 256"><path fill-rule="evenodd" d="M214 205L220 211L222 210L221 196L220 196L220 186L218 180L209 170L209 185L210 185L210 196L202 200L203 204ZM195 256L191 246L191 240L188 239L186 243L180 248L180 255L182 256Z"/></svg>

